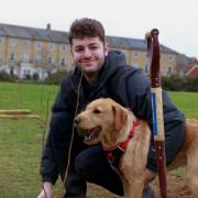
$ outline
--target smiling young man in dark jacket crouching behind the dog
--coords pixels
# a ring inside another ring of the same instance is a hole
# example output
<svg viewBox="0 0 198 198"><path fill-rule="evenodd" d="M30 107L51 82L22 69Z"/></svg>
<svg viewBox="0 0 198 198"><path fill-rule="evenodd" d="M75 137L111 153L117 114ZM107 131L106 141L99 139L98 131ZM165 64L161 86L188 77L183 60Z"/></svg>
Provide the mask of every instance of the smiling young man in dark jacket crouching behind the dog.
<svg viewBox="0 0 198 198"><path fill-rule="evenodd" d="M128 66L122 53L109 51L105 30L94 19L76 20L69 31L70 52L75 72L64 79L55 103L48 138L42 158L43 186L47 198L58 175L64 179L73 133L73 120L90 101L110 97L145 119L152 129L150 80L139 69ZM166 138L166 162L169 164L182 147L185 136L185 118L163 92ZM155 150L151 145L147 157L146 184L156 175ZM65 198L86 197L86 183L98 184L110 191L123 195L122 184L111 169L100 145L88 147L75 131ZM145 185L146 185L145 184ZM153 197L150 187L144 198ZM44 198L44 190L38 198Z"/></svg>

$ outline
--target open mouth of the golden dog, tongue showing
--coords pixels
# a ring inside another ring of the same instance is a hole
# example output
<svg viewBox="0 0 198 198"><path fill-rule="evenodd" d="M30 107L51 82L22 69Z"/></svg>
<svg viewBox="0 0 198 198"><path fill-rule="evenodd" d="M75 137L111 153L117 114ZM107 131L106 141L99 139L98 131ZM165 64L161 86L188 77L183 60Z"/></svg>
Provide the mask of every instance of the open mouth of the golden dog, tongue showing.
<svg viewBox="0 0 198 198"><path fill-rule="evenodd" d="M101 127L96 127L91 130L82 130L82 129L78 129L78 133L79 135L84 136L84 141L85 142L91 142L94 141L96 138L99 136L101 131Z"/></svg>

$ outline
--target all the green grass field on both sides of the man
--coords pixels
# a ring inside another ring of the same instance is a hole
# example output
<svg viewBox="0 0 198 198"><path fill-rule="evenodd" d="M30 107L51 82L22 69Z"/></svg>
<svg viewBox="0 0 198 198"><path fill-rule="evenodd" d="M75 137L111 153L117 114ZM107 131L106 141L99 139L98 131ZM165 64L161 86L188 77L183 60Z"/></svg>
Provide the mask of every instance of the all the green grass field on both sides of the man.
<svg viewBox="0 0 198 198"><path fill-rule="evenodd" d="M0 109L31 109L45 119L57 88L0 82ZM169 92L169 96L187 118L198 119L198 92ZM35 198L38 194L43 132L44 122L38 120L0 119L0 198ZM56 190L62 190L59 186ZM55 191L54 197L57 195ZM99 196L92 191L88 197Z"/></svg>

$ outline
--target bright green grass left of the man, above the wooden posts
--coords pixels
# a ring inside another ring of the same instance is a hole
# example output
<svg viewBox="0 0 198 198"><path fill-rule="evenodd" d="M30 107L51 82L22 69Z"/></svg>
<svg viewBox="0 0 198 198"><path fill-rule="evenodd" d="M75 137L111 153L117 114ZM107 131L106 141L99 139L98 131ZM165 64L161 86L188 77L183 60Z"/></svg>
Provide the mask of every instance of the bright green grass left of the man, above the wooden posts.
<svg viewBox="0 0 198 198"><path fill-rule="evenodd" d="M51 107L57 86L0 82L0 109L31 109L45 116Z"/></svg>

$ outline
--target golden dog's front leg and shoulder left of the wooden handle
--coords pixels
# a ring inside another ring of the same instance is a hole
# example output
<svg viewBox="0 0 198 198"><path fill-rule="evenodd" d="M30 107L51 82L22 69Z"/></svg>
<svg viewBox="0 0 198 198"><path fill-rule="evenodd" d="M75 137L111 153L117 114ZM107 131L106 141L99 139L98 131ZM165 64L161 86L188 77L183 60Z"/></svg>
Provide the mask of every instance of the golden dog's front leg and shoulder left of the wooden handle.
<svg viewBox="0 0 198 198"><path fill-rule="evenodd" d="M122 158L122 174L125 182L125 197L141 198L145 184L145 168L150 146L150 130L145 123L140 123L139 131L129 142Z"/></svg>

